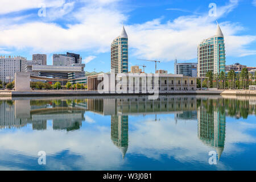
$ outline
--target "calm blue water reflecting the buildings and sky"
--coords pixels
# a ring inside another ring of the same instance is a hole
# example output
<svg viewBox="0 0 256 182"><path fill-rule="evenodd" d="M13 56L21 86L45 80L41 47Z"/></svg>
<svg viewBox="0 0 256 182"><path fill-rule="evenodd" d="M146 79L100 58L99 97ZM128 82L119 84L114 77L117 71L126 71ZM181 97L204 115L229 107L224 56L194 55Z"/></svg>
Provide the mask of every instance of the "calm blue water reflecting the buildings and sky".
<svg viewBox="0 0 256 182"><path fill-rule="evenodd" d="M0 169L255 170L255 101L0 98ZM39 151L46 165L38 164ZM209 164L209 151L217 164Z"/></svg>

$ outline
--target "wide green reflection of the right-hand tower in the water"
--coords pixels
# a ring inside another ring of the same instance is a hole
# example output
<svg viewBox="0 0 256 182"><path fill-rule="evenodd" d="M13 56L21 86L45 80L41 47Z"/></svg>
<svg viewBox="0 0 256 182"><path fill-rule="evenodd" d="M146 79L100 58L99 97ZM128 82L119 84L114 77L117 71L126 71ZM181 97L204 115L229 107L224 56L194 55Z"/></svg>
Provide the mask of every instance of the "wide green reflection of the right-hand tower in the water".
<svg viewBox="0 0 256 182"><path fill-rule="evenodd" d="M209 111L201 106L197 111L197 117L199 139L204 144L214 147L220 159L225 143L225 113L218 109Z"/></svg>

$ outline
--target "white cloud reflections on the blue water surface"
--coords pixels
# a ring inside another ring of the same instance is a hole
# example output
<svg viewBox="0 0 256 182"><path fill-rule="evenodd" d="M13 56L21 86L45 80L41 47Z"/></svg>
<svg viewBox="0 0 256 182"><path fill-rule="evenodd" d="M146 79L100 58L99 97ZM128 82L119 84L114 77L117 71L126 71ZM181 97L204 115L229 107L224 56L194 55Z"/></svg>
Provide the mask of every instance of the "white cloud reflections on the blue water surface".
<svg viewBox="0 0 256 182"><path fill-rule="evenodd" d="M163 156L167 156L181 163L201 163L209 166L208 152L214 148L203 144L198 138L197 121L179 122L176 125L173 118L164 115L159 117L160 122L134 121L129 118L129 121L132 120L129 122L129 127L131 125L133 130L129 131L127 154L146 156L148 159L158 161L162 160ZM247 131L255 127L254 123L226 123L225 147L222 156L242 154L243 147L237 146L236 143L254 144L255 137ZM119 169L125 163L122 160L121 151L111 140L110 128L100 125L69 133L53 130L51 126L47 126L45 131L30 132L26 129L18 129L8 132L7 130L0 133L0 148L0 160L7 164L14 163L13 154L24 156L30 159L29 163L32 163L33 160L37 161L38 151L46 151L49 157L67 149L68 155L81 156L79 160L73 162L73 165L79 169ZM55 170L71 170L67 160L51 158L48 160L48 166ZM18 163L20 162L23 161L19 160ZM222 163L220 159L217 167L231 169L227 164Z"/></svg>

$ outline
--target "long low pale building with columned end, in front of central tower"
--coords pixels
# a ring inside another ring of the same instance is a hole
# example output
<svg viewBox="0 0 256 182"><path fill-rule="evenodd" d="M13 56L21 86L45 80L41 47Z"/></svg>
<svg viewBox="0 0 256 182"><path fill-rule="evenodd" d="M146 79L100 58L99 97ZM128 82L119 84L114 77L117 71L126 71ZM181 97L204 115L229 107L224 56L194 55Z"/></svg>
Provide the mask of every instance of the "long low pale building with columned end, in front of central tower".
<svg viewBox="0 0 256 182"><path fill-rule="evenodd" d="M185 77L174 74L138 74L131 73L117 74L100 74L88 76L88 90L100 92L124 92L127 93L148 93L152 90L159 92L173 92L175 90L196 90L197 79L201 81L204 77ZM119 82L121 80L121 82ZM120 90L117 90L121 86ZM202 88L201 88L202 89Z"/></svg>

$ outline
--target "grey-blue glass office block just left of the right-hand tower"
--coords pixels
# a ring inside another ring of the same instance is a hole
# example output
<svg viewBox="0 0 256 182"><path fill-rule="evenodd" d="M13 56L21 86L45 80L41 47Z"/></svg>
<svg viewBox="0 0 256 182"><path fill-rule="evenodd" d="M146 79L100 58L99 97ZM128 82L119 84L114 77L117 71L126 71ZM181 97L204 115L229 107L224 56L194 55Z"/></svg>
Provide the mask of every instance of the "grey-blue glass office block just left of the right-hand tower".
<svg viewBox="0 0 256 182"><path fill-rule="evenodd" d="M197 76L197 63L174 63L174 74L183 76Z"/></svg>

